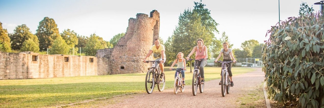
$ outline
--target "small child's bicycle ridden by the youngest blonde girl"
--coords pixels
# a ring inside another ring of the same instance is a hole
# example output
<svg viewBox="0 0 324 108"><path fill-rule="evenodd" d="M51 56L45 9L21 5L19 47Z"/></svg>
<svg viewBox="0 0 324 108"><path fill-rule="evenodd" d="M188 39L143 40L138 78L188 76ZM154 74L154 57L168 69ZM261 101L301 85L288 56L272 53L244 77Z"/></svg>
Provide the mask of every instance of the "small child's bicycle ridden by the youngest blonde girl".
<svg viewBox="0 0 324 108"><path fill-rule="evenodd" d="M181 92L184 91L184 85L182 84L182 78L181 78L181 70L183 70L183 68L181 69L174 69L172 68L172 70L175 70L177 72L177 77L174 78L174 84L173 84L173 93L177 94L178 90L180 90ZM180 76L179 76L180 74Z"/></svg>

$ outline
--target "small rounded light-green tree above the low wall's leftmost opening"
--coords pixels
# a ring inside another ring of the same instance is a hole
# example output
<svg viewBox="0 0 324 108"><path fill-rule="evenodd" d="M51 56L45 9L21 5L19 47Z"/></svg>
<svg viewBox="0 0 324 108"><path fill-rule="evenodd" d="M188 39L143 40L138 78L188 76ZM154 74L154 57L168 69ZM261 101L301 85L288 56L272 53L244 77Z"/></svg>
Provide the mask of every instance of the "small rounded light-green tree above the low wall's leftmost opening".
<svg viewBox="0 0 324 108"><path fill-rule="evenodd" d="M33 39L28 39L22 43L20 51L31 51L38 53L40 51L40 47Z"/></svg>

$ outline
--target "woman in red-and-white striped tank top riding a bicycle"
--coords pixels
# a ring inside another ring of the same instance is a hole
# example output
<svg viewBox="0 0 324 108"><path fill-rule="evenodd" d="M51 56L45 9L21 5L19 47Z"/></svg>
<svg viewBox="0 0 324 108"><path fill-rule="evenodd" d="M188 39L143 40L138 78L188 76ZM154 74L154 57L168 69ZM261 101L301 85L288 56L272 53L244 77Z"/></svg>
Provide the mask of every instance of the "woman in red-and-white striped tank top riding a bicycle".
<svg viewBox="0 0 324 108"><path fill-rule="evenodd" d="M199 65L199 69L200 69L200 75L201 75L201 78L202 78L202 83L205 83L205 80L204 80L204 71L203 71L203 67L205 67L207 65L207 47L203 44L203 39L198 39L197 40L197 46L193 47L191 53L186 57L187 60L189 60L189 57L194 53L196 52L196 57L195 59L196 60L199 60L199 59L204 59L202 61L198 61L198 64ZM196 68L196 62L195 62L195 68Z"/></svg>

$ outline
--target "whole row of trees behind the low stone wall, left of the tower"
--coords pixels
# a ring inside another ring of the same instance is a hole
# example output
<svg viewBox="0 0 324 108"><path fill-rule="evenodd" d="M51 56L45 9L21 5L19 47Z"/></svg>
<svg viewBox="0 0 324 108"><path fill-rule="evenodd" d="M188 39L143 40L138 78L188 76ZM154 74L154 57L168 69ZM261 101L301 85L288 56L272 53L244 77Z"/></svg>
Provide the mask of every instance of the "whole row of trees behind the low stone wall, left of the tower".
<svg viewBox="0 0 324 108"><path fill-rule="evenodd" d="M60 33L54 19L48 17L39 22L35 34L30 31L26 24L19 25L13 33L8 33L0 22L0 51L39 53L46 52L49 49L49 54L71 54L73 50L77 54L80 53L79 48L82 47L82 53L95 56L98 49L113 48L124 35L125 33L119 33L110 41L104 41L95 33L89 37L78 35L70 29L63 30Z"/></svg>

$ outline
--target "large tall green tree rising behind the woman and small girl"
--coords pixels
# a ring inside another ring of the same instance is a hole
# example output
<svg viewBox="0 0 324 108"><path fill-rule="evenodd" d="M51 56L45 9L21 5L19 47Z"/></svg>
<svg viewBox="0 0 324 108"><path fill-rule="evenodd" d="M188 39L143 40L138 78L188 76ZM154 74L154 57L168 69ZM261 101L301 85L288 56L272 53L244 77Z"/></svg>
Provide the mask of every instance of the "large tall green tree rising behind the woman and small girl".
<svg viewBox="0 0 324 108"><path fill-rule="evenodd" d="M194 9L184 10L179 16L179 22L171 37L165 43L167 63L176 58L178 52L185 55L189 54L194 46L197 45L196 40L201 38L204 40L204 45L208 48L208 56L211 57L211 52L219 48L220 43L217 42L214 32L218 32L218 25L210 16L210 11L204 8L201 2L194 2ZM219 49L217 49L219 50ZM217 51L219 52L219 51ZM194 54L193 54L194 56Z"/></svg>

